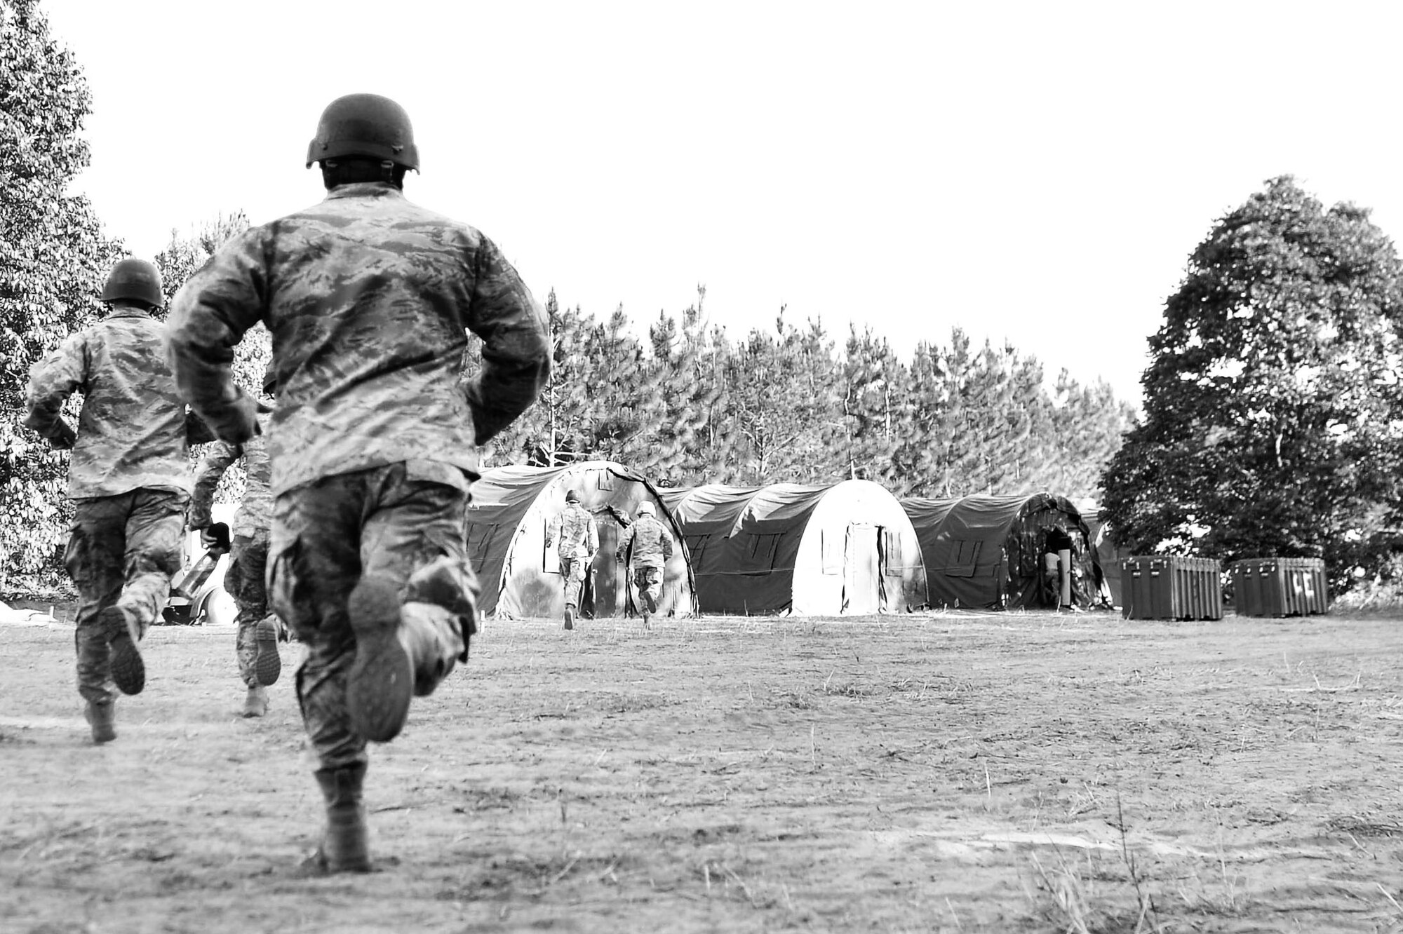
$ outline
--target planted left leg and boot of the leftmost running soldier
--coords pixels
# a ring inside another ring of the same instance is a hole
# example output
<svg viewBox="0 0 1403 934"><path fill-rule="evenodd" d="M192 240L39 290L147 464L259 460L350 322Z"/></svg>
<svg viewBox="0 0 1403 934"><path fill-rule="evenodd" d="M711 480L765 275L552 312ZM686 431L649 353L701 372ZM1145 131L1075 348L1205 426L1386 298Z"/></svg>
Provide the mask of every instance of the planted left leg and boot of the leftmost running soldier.
<svg viewBox="0 0 1403 934"><path fill-rule="evenodd" d="M63 565L79 592L77 628L73 632L79 694L87 701L87 719L98 743L116 738L111 635L100 617L122 593L130 503L130 494L76 501L63 554Z"/></svg>

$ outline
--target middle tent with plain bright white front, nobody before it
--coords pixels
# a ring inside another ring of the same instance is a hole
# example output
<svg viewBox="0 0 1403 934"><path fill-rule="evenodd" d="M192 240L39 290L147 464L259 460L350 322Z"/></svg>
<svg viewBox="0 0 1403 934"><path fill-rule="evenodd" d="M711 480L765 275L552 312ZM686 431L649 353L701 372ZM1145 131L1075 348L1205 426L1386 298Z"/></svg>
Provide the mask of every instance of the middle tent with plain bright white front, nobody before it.
<svg viewBox="0 0 1403 934"><path fill-rule="evenodd" d="M703 613L839 616L925 599L916 532L867 480L664 489L682 526Z"/></svg>

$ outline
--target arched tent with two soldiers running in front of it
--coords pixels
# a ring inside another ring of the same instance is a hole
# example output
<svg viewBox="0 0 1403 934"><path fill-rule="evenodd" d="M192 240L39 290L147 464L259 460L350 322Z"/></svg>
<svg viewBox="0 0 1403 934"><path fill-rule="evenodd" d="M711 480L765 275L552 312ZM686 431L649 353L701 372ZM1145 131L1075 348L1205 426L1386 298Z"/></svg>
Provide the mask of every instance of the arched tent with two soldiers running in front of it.
<svg viewBox="0 0 1403 934"><path fill-rule="evenodd" d="M599 530L599 551L585 581L579 611L585 617L637 613L637 595L623 562L615 561L620 516L637 516L638 503L658 508L658 520L673 536L672 558L662 574L658 613L687 616L696 607L692 568L680 529L658 491L643 475L612 461L568 467L495 467L473 484L467 510L467 548L481 585L478 611L506 618L560 617L564 583L556 548L546 547L546 529L565 509L574 489Z"/></svg>

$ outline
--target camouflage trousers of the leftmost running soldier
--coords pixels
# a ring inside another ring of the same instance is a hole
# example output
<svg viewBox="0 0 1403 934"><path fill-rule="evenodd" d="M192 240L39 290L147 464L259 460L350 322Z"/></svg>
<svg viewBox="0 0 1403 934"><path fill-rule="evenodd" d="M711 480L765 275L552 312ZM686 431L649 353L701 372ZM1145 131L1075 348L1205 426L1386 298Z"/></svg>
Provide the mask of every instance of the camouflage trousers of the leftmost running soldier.
<svg viewBox="0 0 1403 934"><path fill-rule="evenodd" d="M104 703L116 697L111 669L111 632L98 614L121 607L146 630L170 596L181 565L181 533L189 496L174 489L132 489L115 496L73 501L73 524L63 554L79 590L79 694Z"/></svg>

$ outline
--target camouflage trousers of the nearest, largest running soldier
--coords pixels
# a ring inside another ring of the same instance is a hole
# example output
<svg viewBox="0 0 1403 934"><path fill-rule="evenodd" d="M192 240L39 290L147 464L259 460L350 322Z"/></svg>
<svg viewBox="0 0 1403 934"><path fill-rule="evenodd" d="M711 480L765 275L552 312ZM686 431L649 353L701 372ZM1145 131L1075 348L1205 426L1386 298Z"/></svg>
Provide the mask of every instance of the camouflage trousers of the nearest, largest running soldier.
<svg viewBox="0 0 1403 934"><path fill-rule="evenodd" d="M347 602L362 576L398 581L404 613L435 627L455 658L467 659L477 578L464 539L470 501L456 467L407 461L324 477L274 502L268 585L274 611L306 647L297 669L302 722L320 769L368 762L366 740L351 731L347 679L355 661ZM450 569L452 592L422 596L415 576Z"/></svg>

